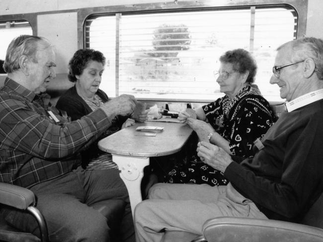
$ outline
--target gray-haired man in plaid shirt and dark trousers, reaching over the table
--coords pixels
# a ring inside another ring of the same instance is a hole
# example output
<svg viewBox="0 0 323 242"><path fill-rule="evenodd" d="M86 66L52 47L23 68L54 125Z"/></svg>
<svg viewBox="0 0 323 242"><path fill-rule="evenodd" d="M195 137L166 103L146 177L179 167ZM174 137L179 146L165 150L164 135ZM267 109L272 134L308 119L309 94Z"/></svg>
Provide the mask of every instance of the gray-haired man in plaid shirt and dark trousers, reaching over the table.
<svg viewBox="0 0 323 242"><path fill-rule="evenodd" d="M32 190L51 242L109 241L106 218L91 204L120 199L127 205L123 241L134 241L127 189L118 170L85 171L80 151L102 134L116 115L134 110L121 95L78 121L67 122L45 93L55 78L55 52L44 38L22 35L9 44L0 91L0 181ZM3 211L10 224L35 233L36 223L17 211ZM37 233L36 233L37 234Z"/></svg>

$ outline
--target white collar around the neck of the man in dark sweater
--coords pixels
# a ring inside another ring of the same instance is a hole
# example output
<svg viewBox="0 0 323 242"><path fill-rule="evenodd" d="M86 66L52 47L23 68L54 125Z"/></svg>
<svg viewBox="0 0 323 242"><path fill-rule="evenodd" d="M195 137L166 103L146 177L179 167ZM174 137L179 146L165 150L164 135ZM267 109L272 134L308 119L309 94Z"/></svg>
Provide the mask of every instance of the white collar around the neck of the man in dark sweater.
<svg viewBox="0 0 323 242"><path fill-rule="evenodd" d="M296 109L304 107L310 103L314 103L316 101L319 101L321 99L323 99L323 89L319 89L314 92L309 92L305 95L295 98L294 100L292 100L290 102L286 102L285 103L286 110L287 110L287 112L292 112Z"/></svg>

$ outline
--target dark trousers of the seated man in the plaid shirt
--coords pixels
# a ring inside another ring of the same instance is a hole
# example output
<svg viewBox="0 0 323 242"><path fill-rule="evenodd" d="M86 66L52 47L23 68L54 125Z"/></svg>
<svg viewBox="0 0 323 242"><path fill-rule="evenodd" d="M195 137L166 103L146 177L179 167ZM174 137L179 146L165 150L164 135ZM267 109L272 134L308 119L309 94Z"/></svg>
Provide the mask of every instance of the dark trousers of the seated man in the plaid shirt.
<svg viewBox="0 0 323 242"><path fill-rule="evenodd" d="M128 191L119 171L86 171L79 167L68 174L31 187L36 207L45 217L51 242L110 242L107 219L91 205L107 199L126 203L120 224L122 241L134 242L134 226ZM37 224L26 213L10 211L6 220L37 235Z"/></svg>

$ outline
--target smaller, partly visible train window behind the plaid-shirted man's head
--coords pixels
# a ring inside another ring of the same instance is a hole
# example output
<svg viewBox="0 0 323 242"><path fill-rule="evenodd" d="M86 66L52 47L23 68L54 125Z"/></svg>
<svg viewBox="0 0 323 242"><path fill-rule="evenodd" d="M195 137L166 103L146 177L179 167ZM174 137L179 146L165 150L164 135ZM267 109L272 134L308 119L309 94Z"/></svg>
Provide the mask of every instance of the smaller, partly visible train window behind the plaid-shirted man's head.
<svg viewBox="0 0 323 242"><path fill-rule="evenodd" d="M29 22L25 20L0 21L0 60L5 59L5 53L11 40L22 34L32 35Z"/></svg>

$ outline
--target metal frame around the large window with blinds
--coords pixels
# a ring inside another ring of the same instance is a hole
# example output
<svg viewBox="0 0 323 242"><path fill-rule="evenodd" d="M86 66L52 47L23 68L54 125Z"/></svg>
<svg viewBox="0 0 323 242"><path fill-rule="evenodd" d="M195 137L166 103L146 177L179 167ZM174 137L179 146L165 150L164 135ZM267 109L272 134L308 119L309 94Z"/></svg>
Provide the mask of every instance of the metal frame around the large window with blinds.
<svg viewBox="0 0 323 242"><path fill-rule="evenodd" d="M122 14L145 14L145 13L162 13L162 12L173 12L178 10L185 11L196 11L196 10L214 10L214 9L242 9L244 7L255 6L257 8L262 7L291 7L294 9L297 15L297 29L296 38L305 36L306 24L307 24L307 7L308 0L298 1L298 0L285 0L282 3L281 0L250 0L245 3L245 0L236 0L234 3L231 0L199 0L199 1L178 1L178 2L157 2L157 3L142 3L142 4L132 4L132 5L116 5L109 7L93 7L80 9L78 11L78 38L79 38L79 49L86 48L86 31L85 31L85 21L91 16L100 15L115 15L118 13ZM79 25L80 24L80 25ZM116 60L117 61L117 60ZM118 75L118 68L116 68L116 78ZM117 88L117 87L116 87ZM168 99L152 99L152 98L140 98L140 100L146 101L170 101L170 102L201 102L205 103L209 100L176 100L172 98Z"/></svg>

